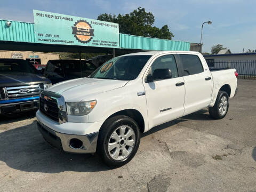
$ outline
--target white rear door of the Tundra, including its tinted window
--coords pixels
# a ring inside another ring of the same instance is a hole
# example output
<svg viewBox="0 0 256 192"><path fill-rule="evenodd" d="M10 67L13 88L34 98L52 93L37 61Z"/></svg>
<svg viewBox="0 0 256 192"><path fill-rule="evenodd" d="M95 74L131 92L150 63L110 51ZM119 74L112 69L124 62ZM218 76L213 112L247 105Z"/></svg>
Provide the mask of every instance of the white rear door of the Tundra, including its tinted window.
<svg viewBox="0 0 256 192"><path fill-rule="evenodd" d="M198 55L179 54L185 81L185 114L209 106L212 93L212 79L208 68L204 68Z"/></svg>

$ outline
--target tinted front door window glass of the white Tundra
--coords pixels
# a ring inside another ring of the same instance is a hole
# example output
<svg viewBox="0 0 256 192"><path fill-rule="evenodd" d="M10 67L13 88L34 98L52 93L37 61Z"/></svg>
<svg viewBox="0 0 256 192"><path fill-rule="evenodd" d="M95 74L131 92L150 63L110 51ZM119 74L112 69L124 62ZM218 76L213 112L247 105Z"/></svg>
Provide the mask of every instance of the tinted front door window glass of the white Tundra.
<svg viewBox="0 0 256 192"><path fill-rule="evenodd" d="M151 65L151 71L153 74L156 69L171 69L172 78L178 77L178 69L173 55L164 55L157 58Z"/></svg>

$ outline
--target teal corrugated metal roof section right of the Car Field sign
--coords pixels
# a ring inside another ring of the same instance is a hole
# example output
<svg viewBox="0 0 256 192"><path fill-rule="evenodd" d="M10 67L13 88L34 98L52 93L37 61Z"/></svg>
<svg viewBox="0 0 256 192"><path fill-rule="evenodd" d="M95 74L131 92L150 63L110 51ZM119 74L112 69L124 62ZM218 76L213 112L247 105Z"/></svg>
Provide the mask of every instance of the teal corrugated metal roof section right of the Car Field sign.
<svg viewBox="0 0 256 192"><path fill-rule="evenodd" d="M189 51L190 43L120 34L120 48L156 51Z"/></svg>

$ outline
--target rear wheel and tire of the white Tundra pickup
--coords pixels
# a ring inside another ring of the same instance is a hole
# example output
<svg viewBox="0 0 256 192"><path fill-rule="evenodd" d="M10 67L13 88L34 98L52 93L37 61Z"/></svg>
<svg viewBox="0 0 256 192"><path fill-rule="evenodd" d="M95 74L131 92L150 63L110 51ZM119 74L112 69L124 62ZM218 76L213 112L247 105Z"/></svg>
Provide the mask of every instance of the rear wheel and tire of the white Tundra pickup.
<svg viewBox="0 0 256 192"><path fill-rule="evenodd" d="M226 98L226 99L225 99ZM222 119L228 113L229 96L226 91L219 91L213 107L209 107L210 116L215 119Z"/></svg>

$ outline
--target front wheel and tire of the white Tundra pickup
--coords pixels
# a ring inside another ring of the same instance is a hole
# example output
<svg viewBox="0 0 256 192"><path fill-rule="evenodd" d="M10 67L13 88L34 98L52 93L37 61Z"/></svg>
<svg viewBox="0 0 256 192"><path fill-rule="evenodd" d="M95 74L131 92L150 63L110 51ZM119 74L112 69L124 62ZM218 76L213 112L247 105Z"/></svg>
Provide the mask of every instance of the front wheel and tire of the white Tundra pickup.
<svg viewBox="0 0 256 192"><path fill-rule="evenodd" d="M107 119L101 126L97 153L106 165L114 168L130 162L139 145L138 124L130 117L119 115Z"/></svg>

